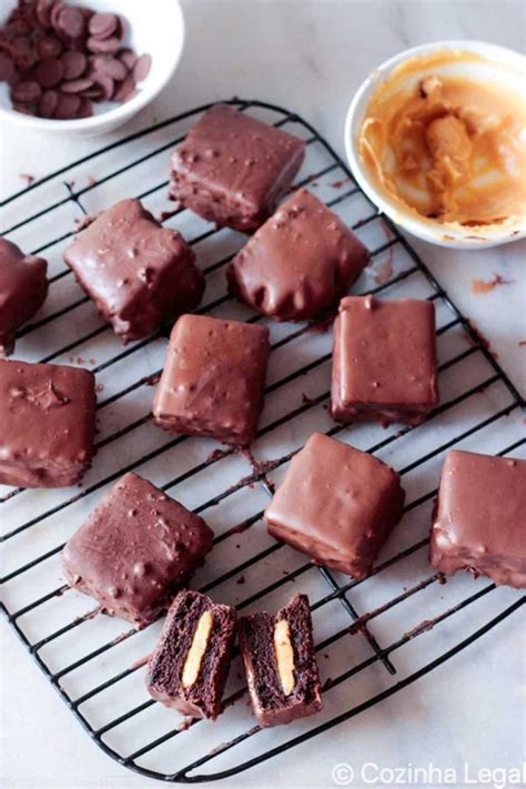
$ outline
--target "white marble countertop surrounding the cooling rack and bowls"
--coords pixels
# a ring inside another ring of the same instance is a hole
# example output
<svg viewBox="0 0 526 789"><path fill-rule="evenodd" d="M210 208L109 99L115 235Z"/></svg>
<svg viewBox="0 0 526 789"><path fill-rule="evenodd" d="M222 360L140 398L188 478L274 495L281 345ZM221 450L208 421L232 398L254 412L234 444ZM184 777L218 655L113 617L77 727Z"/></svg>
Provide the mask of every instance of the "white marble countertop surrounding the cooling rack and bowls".
<svg viewBox="0 0 526 789"><path fill-rule="evenodd" d="M117 134L209 100L240 95L296 110L343 153L348 101L382 60L434 39L473 38L517 50L525 43L522 0L186 0L184 11L186 47L175 78L152 107ZM9 127L0 133L3 195L20 189L21 172L44 175L108 141L64 139L58 144ZM524 394L526 243L472 253L415 246ZM509 284L482 295L473 292L474 279L490 281L496 274ZM436 678L421 680L358 716L352 727L332 729L323 746L315 740L293 749L224 786L263 787L270 778L275 786L333 786L334 765L360 768L366 761L455 767L456 783L464 785L481 768L518 765L525 756L520 618L519 613L507 619L498 633L438 669ZM0 627L1 786L155 786L89 741L6 623ZM464 762L472 770L465 775ZM406 777L405 782L412 781ZM365 785L360 775L352 783Z"/></svg>

